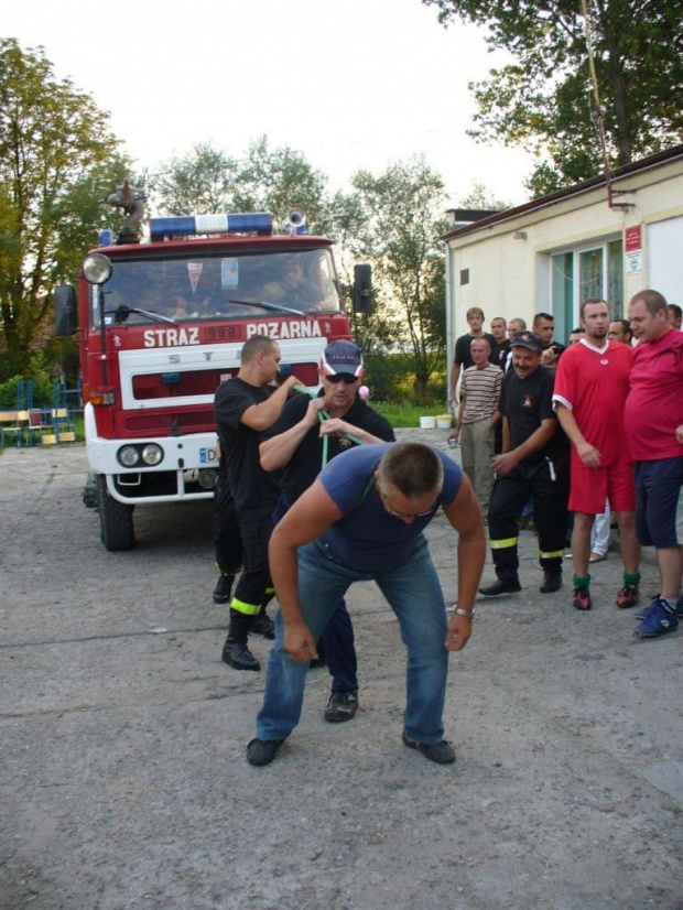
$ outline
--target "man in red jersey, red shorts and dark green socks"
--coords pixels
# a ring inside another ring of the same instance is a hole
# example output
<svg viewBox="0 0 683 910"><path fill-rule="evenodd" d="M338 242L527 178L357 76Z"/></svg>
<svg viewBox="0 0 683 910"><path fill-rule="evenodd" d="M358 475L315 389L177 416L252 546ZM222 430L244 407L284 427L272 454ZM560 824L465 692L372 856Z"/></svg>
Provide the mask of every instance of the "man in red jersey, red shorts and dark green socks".
<svg viewBox="0 0 683 910"><path fill-rule="evenodd" d="M599 297L581 305L586 337L564 351L555 379L553 402L562 429L572 441L572 491L574 512L574 606L589 610L590 531L596 514L609 500L617 517L624 587L617 606L638 602L640 544L636 534L636 490L632 463L624 427L624 405L629 391L633 351L607 338L609 307Z"/></svg>

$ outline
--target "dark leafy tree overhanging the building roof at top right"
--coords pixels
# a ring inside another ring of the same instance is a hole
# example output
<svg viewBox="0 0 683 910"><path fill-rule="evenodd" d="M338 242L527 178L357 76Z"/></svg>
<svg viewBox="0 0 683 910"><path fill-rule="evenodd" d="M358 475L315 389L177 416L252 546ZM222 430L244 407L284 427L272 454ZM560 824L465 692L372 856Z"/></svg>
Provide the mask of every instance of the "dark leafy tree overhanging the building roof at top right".
<svg viewBox="0 0 683 910"><path fill-rule="evenodd" d="M542 161L535 195L603 170L579 0L422 0L438 19L488 29L516 62L470 87L481 140L523 145ZM683 130L683 17L672 0L587 0L610 166L661 151Z"/></svg>

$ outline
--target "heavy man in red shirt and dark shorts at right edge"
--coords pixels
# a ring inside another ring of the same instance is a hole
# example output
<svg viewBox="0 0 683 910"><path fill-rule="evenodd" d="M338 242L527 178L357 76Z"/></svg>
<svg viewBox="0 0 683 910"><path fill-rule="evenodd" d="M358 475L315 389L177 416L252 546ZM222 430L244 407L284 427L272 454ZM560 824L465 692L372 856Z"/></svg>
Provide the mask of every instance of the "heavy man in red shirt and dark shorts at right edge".
<svg viewBox="0 0 683 910"><path fill-rule="evenodd" d="M682 611L683 543L683 333L671 326L666 301L657 291L640 291L628 308L638 347L625 424L636 464L636 530L654 546L661 594L636 629L641 638L673 631Z"/></svg>

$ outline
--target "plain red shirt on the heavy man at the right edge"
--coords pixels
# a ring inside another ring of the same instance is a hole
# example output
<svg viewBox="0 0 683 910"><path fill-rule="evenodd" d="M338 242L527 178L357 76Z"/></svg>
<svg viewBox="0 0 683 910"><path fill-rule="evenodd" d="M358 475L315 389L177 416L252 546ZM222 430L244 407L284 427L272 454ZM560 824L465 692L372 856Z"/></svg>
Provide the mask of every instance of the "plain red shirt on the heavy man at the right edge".
<svg viewBox="0 0 683 910"><path fill-rule="evenodd" d="M672 328L636 348L625 423L633 461L683 456L675 440L683 424L683 333Z"/></svg>

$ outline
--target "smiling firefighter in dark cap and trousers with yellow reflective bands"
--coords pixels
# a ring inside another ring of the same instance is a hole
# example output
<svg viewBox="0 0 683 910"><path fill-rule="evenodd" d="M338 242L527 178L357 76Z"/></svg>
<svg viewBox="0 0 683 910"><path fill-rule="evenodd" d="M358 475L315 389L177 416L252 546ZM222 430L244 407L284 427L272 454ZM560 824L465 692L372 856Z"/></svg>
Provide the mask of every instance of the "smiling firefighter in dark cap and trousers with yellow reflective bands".
<svg viewBox="0 0 683 910"><path fill-rule="evenodd" d="M479 593L487 597L521 591L517 520L533 497L541 592L562 585L562 557L570 495L570 446L553 410L554 370L541 365L543 339L518 332L512 339L512 369L502 381L500 412L503 452L492 462L497 475L488 513L489 543L497 581Z"/></svg>

